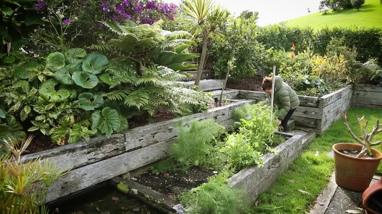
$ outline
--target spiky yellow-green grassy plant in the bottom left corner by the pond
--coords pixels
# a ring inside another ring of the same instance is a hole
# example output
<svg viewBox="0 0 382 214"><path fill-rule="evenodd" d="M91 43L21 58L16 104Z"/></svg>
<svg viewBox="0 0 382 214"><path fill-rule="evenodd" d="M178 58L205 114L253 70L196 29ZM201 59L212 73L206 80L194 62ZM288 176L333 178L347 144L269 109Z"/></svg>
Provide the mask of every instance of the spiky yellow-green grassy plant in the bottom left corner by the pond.
<svg viewBox="0 0 382 214"><path fill-rule="evenodd" d="M0 151L10 151L10 155L0 155L0 208L4 213L49 214L45 206L49 187L65 174L66 170L58 169L49 158L21 160L32 139L29 136L21 144L2 139L0 144ZM37 181L42 183L42 188Z"/></svg>

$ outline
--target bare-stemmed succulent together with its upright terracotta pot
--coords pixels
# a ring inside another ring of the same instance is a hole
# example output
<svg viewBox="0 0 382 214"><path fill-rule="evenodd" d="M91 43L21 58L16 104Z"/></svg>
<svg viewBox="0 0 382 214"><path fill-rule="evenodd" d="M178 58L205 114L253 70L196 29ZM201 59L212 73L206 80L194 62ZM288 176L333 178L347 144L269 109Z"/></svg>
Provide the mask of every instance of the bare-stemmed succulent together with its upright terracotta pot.
<svg viewBox="0 0 382 214"><path fill-rule="evenodd" d="M377 120L371 133L367 134L367 120L365 117L358 118L361 136L357 137L350 129L346 113L345 126L351 137L359 144L340 143L333 145L334 168L336 183L353 191L364 191L377 171L382 153L372 146L380 145L381 141L372 142L373 137L382 132L382 124Z"/></svg>

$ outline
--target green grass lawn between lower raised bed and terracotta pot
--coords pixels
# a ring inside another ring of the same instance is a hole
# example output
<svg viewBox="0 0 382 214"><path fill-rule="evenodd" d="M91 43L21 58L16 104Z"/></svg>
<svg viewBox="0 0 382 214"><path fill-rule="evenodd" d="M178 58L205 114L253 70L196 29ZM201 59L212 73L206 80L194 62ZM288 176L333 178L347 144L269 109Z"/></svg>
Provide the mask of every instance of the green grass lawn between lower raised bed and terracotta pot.
<svg viewBox="0 0 382 214"><path fill-rule="evenodd" d="M348 122L354 134L360 135L358 117L366 115L369 120L368 130L381 119L382 110L352 108L348 111ZM382 140L382 134L376 135L373 141ZM291 165L290 169L279 177L272 188L259 196L258 206L253 207L256 214L304 214L309 213L310 204L314 204L317 196L321 193L330 179L334 170L333 159L327 154L336 143L353 142L343 120L334 123L324 136L316 138L302 152L300 157ZM381 147L373 147L381 151ZM319 152L316 157L315 153ZM382 164L378 168L382 174ZM301 193L304 190L308 193ZM310 193L310 194L309 194Z"/></svg>

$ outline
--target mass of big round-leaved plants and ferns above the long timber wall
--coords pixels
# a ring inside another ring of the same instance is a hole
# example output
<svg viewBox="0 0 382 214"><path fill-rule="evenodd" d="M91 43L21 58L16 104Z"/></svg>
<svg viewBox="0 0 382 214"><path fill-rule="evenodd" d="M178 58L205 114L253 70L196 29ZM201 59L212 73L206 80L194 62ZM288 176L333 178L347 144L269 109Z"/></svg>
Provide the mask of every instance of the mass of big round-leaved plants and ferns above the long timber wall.
<svg viewBox="0 0 382 214"><path fill-rule="evenodd" d="M0 68L1 139L39 131L63 145L121 132L127 119L159 109L180 116L208 108L209 97L183 88L186 74L174 71L195 68L186 62L197 57L186 53L188 33L164 31L162 22L103 24L109 36L92 48L108 57L72 48Z"/></svg>

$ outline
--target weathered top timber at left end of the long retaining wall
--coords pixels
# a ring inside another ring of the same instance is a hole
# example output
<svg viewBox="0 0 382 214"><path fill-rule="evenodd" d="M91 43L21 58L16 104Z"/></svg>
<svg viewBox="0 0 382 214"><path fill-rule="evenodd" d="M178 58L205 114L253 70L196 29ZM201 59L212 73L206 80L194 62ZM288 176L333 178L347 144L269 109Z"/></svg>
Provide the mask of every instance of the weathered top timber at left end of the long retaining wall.
<svg viewBox="0 0 382 214"><path fill-rule="evenodd" d="M58 169L76 169L97 161L111 158L125 152L125 135L113 134L110 137L95 137L89 142L63 145L54 149L23 156L23 161L36 158L50 158Z"/></svg>

